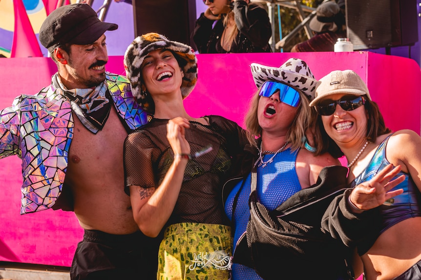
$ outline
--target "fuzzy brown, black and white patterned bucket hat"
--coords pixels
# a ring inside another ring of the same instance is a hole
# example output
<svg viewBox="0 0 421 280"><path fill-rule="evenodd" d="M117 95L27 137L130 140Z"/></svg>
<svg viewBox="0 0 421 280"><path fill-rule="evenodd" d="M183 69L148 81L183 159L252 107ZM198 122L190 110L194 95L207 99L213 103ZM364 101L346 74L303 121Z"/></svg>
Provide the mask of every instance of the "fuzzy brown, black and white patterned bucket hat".
<svg viewBox="0 0 421 280"><path fill-rule="evenodd" d="M136 37L128 46L124 55L124 68L126 70L127 78L130 80L131 91L133 96L143 98L145 92L141 90L142 73L141 66L145 57L154 50L168 49L173 51L178 57L177 60L183 60L186 64L180 67L184 72L183 82L181 84L181 94L183 99L194 89L197 82L197 58L193 49L183 43L170 41L167 37L157 34L148 33Z"/></svg>

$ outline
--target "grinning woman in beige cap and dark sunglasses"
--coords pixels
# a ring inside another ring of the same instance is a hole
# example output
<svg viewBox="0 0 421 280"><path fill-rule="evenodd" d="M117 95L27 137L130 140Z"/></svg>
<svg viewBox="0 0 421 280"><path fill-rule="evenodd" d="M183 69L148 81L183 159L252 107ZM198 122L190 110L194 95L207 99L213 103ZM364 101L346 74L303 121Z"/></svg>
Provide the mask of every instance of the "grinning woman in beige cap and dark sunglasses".
<svg viewBox="0 0 421 280"><path fill-rule="evenodd" d="M392 132L364 81L351 70L333 71L320 79L310 103L319 114L322 141L343 151L348 183L329 220L340 234L344 205L357 215L376 208L379 219L357 241L368 280L421 279L421 138L410 130ZM390 184L379 175L398 170ZM358 214L359 213L359 214Z"/></svg>

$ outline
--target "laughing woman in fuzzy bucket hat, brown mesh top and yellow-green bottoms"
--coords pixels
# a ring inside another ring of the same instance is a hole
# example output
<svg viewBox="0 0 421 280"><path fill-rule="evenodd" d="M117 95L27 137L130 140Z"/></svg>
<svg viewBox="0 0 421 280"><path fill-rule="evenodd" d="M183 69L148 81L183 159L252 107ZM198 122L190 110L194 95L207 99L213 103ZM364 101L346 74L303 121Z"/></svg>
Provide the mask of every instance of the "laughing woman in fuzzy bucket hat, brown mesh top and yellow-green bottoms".
<svg viewBox="0 0 421 280"><path fill-rule="evenodd" d="M193 118L183 99L197 81L188 45L149 33L124 63L132 92L153 114L124 145L126 192L134 219L159 247L158 279L230 278L232 236L222 185L246 133L221 116ZM158 254L151 252L151 258Z"/></svg>

